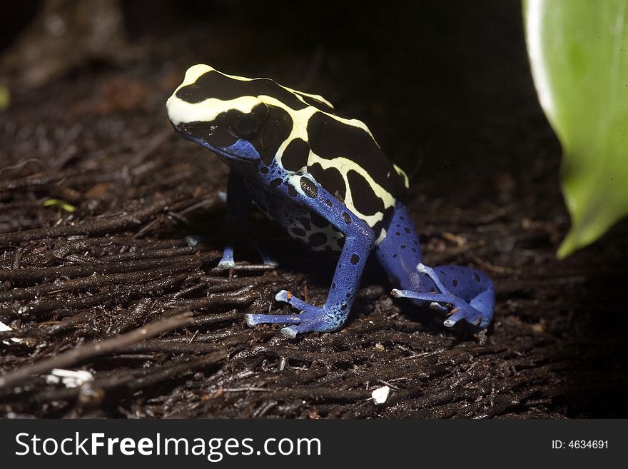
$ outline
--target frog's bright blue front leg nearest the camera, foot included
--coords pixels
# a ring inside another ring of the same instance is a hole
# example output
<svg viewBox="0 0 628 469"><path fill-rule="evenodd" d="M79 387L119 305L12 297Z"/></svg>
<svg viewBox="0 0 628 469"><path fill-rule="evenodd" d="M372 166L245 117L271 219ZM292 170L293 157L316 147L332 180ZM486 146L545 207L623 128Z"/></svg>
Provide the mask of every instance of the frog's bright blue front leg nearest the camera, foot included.
<svg viewBox="0 0 628 469"><path fill-rule="evenodd" d="M325 305L313 306L295 298L288 291L280 291L275 299L290 303L301 310L300 313L246 315L248 326L261 323L288 324L290 326L283 328L281 333L289 338L295 338L298 333L335 331L345 323L355 293L358 291L366 260L373 248L375 236L370 226L308 176L293 176L290 182L297 188L296 191L288 191L289 195L287 194L294 203L318 213L345 236L343 251L336 264Z"/></svg>

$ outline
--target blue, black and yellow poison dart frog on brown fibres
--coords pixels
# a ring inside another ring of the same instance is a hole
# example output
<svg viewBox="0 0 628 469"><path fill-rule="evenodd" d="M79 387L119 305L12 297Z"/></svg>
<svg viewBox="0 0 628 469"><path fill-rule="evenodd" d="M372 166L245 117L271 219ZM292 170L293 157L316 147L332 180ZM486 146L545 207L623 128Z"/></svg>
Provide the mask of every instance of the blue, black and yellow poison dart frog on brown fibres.
<svg viewBox="0 0 628 469"><path fill-rule="evenodd" d="M340 251L323 306L282 290L275 300L299 312L248 314L248 326L281 324L289 338L338 330L347 321L371 251L401 288L393 296L445 313L448 327L460 320L488 326L495 306L492 281L473 268L422 263L419 238L402 202L408 178L363 122L336 114L322 96L208 65L188 69L166 107L179 135L229 166L228 231L248 226L253 201L315 251ZM275 264L255 247L264 263ZM230 240L218 266L235 266Z"/></svg>

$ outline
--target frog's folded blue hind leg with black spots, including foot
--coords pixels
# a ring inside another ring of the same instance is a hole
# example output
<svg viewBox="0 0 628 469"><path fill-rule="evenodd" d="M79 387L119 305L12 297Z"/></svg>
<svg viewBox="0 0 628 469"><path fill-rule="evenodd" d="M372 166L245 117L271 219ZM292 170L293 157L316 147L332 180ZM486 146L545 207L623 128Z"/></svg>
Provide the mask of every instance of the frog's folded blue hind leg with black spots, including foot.
<svg viewBox="0 0 628 469"><path fill-rule="evenodd" d="M412 298L419 305L449 313L444 322L447 327L460 319L480 328L489 325L495 307L495 287L490 278L463 266L424 266L417 234L401 203L375 253L391 281L402 288L393 290L394 296Z"/></svg>

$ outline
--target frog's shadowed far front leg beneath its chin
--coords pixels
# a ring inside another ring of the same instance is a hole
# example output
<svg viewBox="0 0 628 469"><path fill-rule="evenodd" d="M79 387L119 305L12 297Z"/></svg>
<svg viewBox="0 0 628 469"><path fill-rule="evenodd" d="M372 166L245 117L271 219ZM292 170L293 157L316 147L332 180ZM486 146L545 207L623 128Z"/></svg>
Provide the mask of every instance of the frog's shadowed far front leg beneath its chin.
<svg viewBox="0 0 628 469"><path fill-rule="evenodd" d="M250 238L250 206L251 196L242 177L236 171L229 171L227 179L227 218L226 218L226 243L223 257L218 263L218 268L233 268L236 262L233 260L233 243L238 238L247 238L258 251L265 266L277 266L277 261L263 250L256 239Z"/></svg>

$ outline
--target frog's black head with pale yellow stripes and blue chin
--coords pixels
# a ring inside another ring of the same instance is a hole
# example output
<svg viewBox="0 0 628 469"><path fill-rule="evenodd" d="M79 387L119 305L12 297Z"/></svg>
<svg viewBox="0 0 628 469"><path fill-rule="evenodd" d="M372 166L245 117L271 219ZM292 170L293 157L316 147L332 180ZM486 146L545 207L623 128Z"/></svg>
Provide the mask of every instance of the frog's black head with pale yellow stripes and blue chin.
<svg viewBox="0 0 628 469"><path fill-rule="evenodd" d="M195 65L166 107L184 138L232 161L270 163L300 124L295 111L310 106L306 100L328 105L320 96L300 94L270 79L245 79Z"/></svg>

